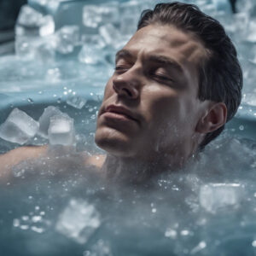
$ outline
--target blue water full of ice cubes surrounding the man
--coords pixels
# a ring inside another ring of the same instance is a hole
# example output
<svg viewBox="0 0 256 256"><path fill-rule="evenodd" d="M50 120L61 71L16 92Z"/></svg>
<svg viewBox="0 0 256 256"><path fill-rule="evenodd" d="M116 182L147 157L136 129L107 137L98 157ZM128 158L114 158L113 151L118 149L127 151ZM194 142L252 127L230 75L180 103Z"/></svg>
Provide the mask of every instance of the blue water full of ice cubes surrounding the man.
<svg viewBox="0 0 256 256"><path fill-rule="evenodd" d="M157 2L50 3L30 1L16 26L16 55L0 58L0 154L50 144L49 154L1 173L0 254L254 255L254 3L237 1L232 15L229 2L195 1L237 44L242 103L224 132L181 170L144 183L106 180L81 154L104 154L94 143L96 116L115 51L135 32L133 15ZM26 31L32 15L42 23ZM22 117L15 132L6 125L15 119L10 113Z"/></svg>

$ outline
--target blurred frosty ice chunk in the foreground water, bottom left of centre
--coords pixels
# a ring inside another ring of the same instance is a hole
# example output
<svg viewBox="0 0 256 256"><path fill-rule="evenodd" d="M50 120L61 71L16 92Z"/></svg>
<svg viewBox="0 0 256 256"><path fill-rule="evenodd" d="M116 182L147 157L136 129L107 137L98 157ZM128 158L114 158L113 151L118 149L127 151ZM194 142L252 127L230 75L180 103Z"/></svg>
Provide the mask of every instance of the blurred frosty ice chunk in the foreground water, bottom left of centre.
<svg viewBox="0 0 256 256"><path fill-rule="evenodd" d="M61 212L55 229L73 241L83 244L100 224L100 214L93 205L80 199L71 199Z"/></svg>

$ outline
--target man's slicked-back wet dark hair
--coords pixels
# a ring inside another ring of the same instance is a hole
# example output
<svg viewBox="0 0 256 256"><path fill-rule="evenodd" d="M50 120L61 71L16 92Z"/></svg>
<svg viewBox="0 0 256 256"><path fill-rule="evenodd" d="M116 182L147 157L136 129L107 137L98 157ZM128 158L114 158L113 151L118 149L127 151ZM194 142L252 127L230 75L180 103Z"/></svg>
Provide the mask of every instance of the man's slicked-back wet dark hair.
<svg viewBox="0 0 256 256"><path fill-rule="evenodd" d="M173 25L184 32L193 32L207 49L208 56L199 65L201 101L224 102L227 121L233 118L241 103L242 72L236 48L218 20L205 15L194 4L159 3L154 10L144 10L137 30L150 24ZM218 137L224 125L207 133L200 148Z"/></svg>

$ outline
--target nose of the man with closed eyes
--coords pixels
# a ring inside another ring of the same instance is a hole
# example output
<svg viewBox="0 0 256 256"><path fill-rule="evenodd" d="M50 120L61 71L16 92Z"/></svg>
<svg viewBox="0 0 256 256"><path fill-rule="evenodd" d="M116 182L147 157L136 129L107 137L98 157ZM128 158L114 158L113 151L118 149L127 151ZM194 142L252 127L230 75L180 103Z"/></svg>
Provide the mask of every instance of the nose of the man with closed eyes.
<svg viewBox="0 0 256 256"><path fill-rule="evenodd" d="M137 99L139 96L139 84L138 74L127 71L113 79L113 90L119 96Z"/></svg>

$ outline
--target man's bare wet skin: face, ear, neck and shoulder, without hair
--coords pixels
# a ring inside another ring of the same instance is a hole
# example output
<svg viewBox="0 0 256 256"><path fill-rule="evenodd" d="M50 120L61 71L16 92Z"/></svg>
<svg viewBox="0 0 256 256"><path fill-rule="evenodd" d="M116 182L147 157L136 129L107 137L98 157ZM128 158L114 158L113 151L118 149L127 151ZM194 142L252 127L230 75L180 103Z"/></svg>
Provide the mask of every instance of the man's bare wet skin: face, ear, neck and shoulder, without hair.
<svg viewBox="0 0 256 256"><path fill-rule="evenodd" d="M135 180L137 170L151 175L155 163L160 172L183 166L205 134L226 121L223 102L198 99L198 65L206 56L198 38L174 26L137 31L116 55L98 114L96 143L107 158L80 154L80 165ZM21 147L0 155L0 181L21 161L51 154L48 147Z"/></svg>

